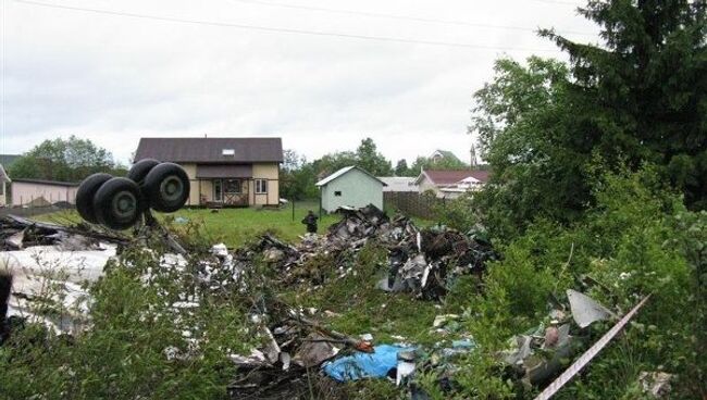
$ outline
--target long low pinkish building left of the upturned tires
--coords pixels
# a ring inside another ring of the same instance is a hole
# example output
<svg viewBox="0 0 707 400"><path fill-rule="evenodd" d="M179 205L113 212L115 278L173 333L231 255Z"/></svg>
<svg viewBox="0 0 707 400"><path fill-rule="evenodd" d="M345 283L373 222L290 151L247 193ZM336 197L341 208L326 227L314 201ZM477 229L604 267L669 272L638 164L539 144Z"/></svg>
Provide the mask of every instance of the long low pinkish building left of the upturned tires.
<svg viewBox="0 0 707 400"><path fill-rule="evenodd" d="M47 207L59 202L74 204L78 184L41 179L13 179L12 205Z"/></svg>

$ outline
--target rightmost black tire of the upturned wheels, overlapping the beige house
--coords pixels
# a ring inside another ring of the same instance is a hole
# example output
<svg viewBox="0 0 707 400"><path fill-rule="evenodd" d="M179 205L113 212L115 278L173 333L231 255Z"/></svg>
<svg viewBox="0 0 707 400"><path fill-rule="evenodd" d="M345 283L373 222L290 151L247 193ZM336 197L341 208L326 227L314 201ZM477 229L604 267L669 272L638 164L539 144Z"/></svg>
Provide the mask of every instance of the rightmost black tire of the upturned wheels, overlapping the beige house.
<svg viewBox="0 0 707 400"><path fill-rule="evenodd" d="M189 198L189 177L179 165L161 163L147 174L141 189L152 209L174 212Z"/></svg>

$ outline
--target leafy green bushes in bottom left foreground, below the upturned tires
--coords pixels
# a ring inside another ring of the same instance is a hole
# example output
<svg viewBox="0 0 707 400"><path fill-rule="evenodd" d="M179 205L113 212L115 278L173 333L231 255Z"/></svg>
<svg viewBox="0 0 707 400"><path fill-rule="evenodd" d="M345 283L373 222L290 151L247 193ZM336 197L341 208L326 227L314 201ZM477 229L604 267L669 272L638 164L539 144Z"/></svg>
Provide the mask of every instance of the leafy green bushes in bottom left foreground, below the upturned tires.
<svg viewBox="0 0 707 400"><path fill-rule="evenodd" d="M37 325L13 332L0 348L1 398L227 398L227 354L252 345L245 299L202 292L198 312L175 308L196 289L196 265L168 267L137 248L122 257L90 288L91 329L71 340Z"/></svg>

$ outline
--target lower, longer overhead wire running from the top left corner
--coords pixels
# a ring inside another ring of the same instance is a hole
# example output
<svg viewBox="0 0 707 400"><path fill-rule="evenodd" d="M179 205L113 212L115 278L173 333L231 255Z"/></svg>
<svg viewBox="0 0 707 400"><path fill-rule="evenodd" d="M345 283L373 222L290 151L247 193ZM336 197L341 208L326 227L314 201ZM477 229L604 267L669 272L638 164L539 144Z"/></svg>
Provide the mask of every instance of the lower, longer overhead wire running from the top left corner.
<svg viewBox="0 0 707 400"><path fill-rule="evenodd" d="M36 7L42 7L49 9L80 11L86 13L126 16L132 18L153 20L153 21L191 24L191 25L231 27L231 28L260 30L260 32L269 32L269 33L281 33L281 34L284 33L284 34L297 34L297 35L309 35L309 36L330 36L330 37L337 37L337 38L345 38L345 39L360 39L360 40L371 40L371 41L397 42L397 43L408 43L408 45L426 45L426 46L439 46L439 47L452 47L452 48L480 49L480 50L531 51L531 52L555 52L555 53L560 52L559 49L530 49L530 48L516 48L516 47L472 45L472 43L462 43L462 42L452 42L452 41L418 40L418 39L395 38L395 37L386 37L386 36L339 34L339 33L323 32L323 30L281 28L281 27L261 26L261 25L236 24L230 22L186 20L186 18L172 17L172 16L148 15L148 14L138 14L138 13L122 12L122 11L89 9L89 8L63 5L63 4L55 4L55 3L45 3L45 2L34 1L34 0L13 0L13 1L22 4L36 5Z"/></svg>

